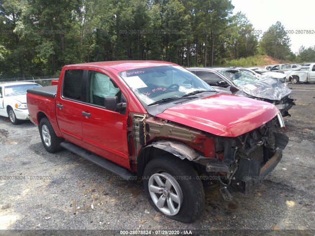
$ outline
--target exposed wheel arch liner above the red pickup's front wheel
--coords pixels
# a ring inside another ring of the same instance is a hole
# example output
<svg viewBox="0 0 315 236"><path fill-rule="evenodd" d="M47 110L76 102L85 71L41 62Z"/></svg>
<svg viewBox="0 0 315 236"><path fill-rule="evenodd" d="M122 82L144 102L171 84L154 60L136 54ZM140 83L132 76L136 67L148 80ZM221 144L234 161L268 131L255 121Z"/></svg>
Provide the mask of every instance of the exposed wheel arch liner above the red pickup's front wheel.
<svg viewBox="0 0 315 236"><path fill-rule="evenodd" d="M176 141L158 141L143 148L137 157L137 173L143 175L146 165L154 158L162 155L172 155L183 161L192 161L199 154L186 144Z"/></svg>

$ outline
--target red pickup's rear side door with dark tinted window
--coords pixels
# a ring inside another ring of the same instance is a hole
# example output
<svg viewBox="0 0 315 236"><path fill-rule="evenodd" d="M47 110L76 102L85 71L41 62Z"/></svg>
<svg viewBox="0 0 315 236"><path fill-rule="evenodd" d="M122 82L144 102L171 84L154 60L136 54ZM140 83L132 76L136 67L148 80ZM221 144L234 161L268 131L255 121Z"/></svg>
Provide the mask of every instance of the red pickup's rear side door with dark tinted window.
<svg viewBox="0 0 315 236"><path fill-rule="evenodd" d="M63 137L85 147L83 142L83 132L81 118L82 100L84 99L83 81L87 76L87 70L69 69L64 72L61 96L56 98L56 116L60 131Z"/></svg>

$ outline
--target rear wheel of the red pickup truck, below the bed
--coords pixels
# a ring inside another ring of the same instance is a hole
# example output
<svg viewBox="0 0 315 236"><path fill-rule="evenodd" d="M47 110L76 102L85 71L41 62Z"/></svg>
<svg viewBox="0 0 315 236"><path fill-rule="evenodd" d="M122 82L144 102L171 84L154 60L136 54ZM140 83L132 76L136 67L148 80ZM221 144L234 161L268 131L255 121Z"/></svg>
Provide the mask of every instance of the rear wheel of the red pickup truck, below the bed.
<svg viewBox="0 0 315 236"><path fill-rule="evenodd" d="M51 153L59 151L61 149L60 143L62 142L62 139L57 137L49 120L47 118L42 118L38 128L44 148Z"/></svg>

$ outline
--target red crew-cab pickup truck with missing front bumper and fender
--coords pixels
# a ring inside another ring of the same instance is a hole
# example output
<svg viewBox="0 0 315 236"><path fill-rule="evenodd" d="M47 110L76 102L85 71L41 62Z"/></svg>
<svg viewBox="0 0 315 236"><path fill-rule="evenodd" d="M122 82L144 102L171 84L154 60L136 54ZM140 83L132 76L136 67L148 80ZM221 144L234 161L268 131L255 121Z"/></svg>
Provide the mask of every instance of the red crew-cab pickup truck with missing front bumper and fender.
<svg viewBox="0 0 315 236"><path fill-rule="evenodd" d="M123 179L143 178L158 211L200 216L203 184L249 192L279 163L288 138L270 103L218 94L164 61L63 67L57 86L29 89L28 109L44 148L66 148Z"/></svg>

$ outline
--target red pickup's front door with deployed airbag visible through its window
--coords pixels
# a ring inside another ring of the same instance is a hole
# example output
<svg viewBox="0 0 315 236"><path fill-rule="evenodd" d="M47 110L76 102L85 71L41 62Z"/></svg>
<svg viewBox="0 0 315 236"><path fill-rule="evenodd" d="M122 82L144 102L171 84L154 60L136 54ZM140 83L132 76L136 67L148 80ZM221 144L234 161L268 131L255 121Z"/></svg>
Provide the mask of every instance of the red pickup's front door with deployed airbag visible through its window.
<svg viewBox="0 0 315 236"><path fill-rule="evenodd" d="M105 97L118 96L127 102L117 81L107 72L90 70L87 102L82 104L82 129L86 148L129 168L127 145L127 110L115 112L105 107Z"/></svg>

